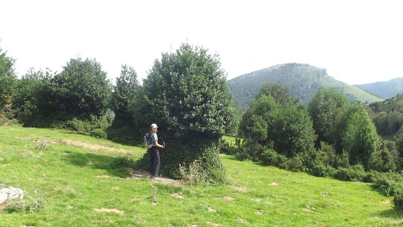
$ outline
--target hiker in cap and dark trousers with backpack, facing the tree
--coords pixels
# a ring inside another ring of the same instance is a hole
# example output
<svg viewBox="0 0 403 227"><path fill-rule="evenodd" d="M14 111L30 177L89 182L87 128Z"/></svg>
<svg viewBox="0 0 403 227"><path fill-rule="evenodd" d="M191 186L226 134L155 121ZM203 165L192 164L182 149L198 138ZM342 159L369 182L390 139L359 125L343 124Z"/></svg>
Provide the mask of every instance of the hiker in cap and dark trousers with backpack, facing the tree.
<svg viewBox="0 0 403 227"><path fill-rule="evenodd" d="M160 171L161 162L158 148L165 148L163 145L158 143L157 129L158 126L156 124L152 124L150 127L150 134L152 135L151 141L153 146L148 149L148 152L150 153L150 167L148 171L150 172L152 178L158 177L158 172Z"/></svg>

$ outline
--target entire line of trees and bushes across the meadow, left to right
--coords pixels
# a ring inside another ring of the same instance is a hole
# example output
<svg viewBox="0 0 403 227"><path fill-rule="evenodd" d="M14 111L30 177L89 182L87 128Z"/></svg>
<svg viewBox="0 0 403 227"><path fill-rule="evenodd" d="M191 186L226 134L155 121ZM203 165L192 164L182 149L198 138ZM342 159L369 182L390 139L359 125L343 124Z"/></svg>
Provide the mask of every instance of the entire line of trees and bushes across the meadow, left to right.
<svg viewBox="0 0 403 227"><path fill-rule="evenodd" d="M100 129L100 137L130 144L158 123L167 142L165 176L179 178L179 164L197 161L208 179L223 182L219 139L235 132L239 120L239 133L247 138L239 159L345 179L349 170L401 170L401 157L393 160L366 108L334 89L319 89L301 105L280 82L264 84L239 119L219 56L203 47L184 43L163 53L142 85L127 65L112 85L95 59L71 59L60 73L32 69L20 79L13 65L0 50L4 118L25 126ZM144 168L147 159L140 162Z"/></svg>

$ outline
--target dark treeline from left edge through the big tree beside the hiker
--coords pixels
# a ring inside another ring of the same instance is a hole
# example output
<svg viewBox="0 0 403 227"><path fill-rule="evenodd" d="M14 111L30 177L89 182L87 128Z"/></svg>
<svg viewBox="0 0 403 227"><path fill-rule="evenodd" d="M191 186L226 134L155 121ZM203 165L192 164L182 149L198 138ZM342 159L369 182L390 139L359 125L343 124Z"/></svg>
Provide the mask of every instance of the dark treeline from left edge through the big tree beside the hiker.
<svg viewBox="0 0 403 227"><path fill-rule="evenodd" d="M157 123L158 138L166 141L162 175L181 178L179 166L197 163L205 183L225 182L219 139L236 130L238 110L218 55L183 43L154 61L142 85L127 65L112 85L101 64L88 58L71 59L60 73L31 70L17 79L14 59L5 52L0 57L0 121L91 132L130 144L140 143ZM146 153L136 167L148 164Z"/></svg>

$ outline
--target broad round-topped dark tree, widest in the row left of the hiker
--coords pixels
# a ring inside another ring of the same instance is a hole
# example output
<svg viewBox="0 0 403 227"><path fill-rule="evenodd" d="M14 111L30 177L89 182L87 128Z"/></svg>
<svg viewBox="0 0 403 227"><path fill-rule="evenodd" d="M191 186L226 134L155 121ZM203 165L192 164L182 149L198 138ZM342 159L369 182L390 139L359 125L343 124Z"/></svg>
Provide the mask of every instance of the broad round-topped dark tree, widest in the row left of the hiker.
<svg viewBox="0 0 403 227"><path fill-rule="evenodd" d="M107 74L95 59L71 59L52 79L57 112L66 117L90 119L103 115L111 86Z"/></svg>

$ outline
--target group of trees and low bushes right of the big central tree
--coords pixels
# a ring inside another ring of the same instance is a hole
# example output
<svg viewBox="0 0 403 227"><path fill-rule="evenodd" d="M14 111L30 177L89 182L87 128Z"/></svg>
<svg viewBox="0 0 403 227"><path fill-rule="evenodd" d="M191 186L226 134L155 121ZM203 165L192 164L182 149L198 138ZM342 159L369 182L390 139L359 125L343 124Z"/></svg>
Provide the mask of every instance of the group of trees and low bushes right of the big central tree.
<svg viewBox="0 0 403 227"><path fill-rule="evenodd" d="M394 159L361 103L335 89L319 89L301 105L281 82L262 86L243 114L239 160L262 162L314 176L375 183L401 207L403 140Z"/></svg>

